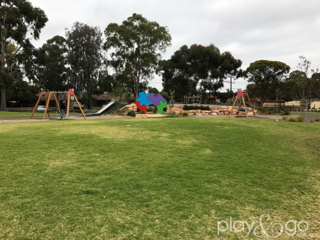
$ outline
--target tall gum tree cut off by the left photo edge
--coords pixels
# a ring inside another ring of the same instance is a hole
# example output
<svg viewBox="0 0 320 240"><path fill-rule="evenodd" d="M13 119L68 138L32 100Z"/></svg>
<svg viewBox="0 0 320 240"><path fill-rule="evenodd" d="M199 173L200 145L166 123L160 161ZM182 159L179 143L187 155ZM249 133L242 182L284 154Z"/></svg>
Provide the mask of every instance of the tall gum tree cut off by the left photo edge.
<svg viewBox="0 0 320 240"><path fill-rule="evenodd" d="M0 2L0 111L7 111L6 90L10 85L8 62L25 49L30 49L31 39L39 39L41 29L48 21L44 11L33 7L25 0L3 0ZM16 50L6 54L8 45Z"/></svg>

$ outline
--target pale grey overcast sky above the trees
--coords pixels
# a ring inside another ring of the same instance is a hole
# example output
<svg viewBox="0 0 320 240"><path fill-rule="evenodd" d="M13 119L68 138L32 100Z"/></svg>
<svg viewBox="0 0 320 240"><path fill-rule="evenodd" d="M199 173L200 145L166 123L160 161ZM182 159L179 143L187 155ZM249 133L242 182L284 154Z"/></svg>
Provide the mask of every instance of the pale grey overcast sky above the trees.
<svg viewBox="0 0 320 240"><path fill-rule="evenodd" d="M255 60L282 61L295 70L298 56L311 67L320 67L320 0L31 0L49 21L35 42L39 47L79 21L99 26L121 24L133 13L168 26L172 46L163 55L170 58L182 45L209 45L230 51L243 61L242 69ZM233 90L247 82L236 80ZM162 89L160 77L150 85ZM225 89L230 88L225 84Z"/></svg>

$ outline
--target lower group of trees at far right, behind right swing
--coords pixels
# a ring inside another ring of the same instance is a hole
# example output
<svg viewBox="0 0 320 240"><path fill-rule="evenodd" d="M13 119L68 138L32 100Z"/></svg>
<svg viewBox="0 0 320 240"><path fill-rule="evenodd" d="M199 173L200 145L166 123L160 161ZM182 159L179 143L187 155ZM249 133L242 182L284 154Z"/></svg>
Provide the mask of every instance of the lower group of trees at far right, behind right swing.
<svg viewBox="0 0 320 240"><path fill-rule="evenodd" d="M311 62L299 56L298 70L290 72L290 66L279 61L259 60L252 62L242 76L249 84L247 90L251 97L261 99L299 99L301 105L310 109L312 100L320 98L320 73L311 70ZM311 77L309 77L311 74Z"/></svg>

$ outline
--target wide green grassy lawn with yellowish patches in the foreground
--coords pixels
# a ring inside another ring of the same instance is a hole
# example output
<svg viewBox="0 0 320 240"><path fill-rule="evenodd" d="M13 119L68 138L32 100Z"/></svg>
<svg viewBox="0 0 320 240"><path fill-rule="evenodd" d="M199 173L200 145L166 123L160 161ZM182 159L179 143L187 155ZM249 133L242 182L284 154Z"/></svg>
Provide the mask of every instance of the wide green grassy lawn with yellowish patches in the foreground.
<svg viewBox="0 0 320 240"><path fill-rule="evenodd" d="M217 236L217 221L262 214L319 233L319 132L218 118L0 124L0 239L257 239Z"/></svg>

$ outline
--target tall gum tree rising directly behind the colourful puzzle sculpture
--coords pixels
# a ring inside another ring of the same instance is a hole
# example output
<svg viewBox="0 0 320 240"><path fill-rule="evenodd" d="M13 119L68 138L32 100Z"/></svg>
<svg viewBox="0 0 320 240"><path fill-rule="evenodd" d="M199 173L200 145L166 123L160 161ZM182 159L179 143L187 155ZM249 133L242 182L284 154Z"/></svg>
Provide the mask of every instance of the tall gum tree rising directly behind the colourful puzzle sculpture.
<svg viewBox="0 0 320 240"><path fill-rule="evenodd" d="M161 53L171 45L168 28L135 13L121 25L110 23L105 36L104 47L111 56L108 64L116 73L130 77L138 97L140 82L153 77Z"/></svg>

